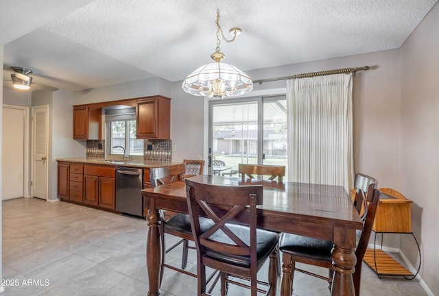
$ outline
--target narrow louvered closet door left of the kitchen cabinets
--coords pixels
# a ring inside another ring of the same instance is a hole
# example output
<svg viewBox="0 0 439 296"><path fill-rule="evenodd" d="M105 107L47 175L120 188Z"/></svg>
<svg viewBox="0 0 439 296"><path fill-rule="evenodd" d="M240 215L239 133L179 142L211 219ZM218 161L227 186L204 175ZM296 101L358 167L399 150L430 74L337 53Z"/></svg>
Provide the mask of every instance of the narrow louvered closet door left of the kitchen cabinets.
<svg viewBox="0 0 439 296"><path fill-rule="evenodd" d="M48 107L32 108L32 196L47 199Z"/></svg>

